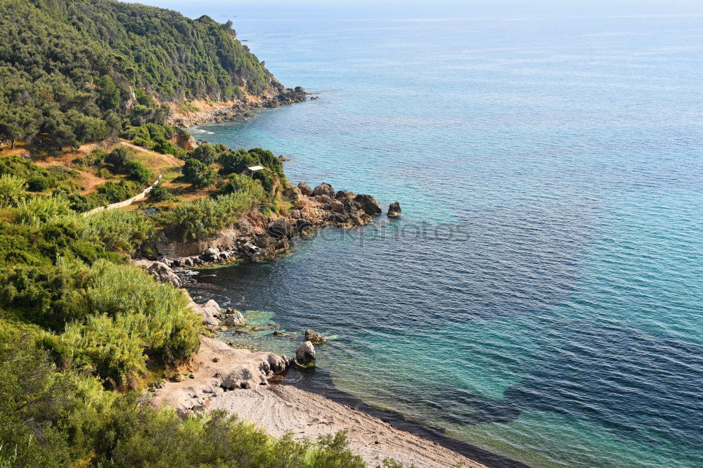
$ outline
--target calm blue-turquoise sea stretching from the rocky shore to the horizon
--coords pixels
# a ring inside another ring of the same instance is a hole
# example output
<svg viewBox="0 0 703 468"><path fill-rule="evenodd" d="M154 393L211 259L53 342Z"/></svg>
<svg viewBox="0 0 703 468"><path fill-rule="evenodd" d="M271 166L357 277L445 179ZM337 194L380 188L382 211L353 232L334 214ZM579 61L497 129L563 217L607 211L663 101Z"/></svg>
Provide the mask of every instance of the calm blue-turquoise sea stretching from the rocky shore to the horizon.
<svg viewBox="0 0 703 468"><path fill-rule="evenodd" d="M337 388L514 460L703 466L703 7L398 5L184 10L320 93L198 138L403 208L202 294L298 333L261 346L336 337Z"/></svg>

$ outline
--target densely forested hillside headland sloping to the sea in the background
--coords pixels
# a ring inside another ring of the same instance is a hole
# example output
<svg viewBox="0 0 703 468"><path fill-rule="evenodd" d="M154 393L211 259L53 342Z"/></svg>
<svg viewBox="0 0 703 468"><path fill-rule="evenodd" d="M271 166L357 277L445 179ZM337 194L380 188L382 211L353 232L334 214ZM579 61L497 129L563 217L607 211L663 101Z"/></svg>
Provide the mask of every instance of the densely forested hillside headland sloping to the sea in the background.
<svg viewBox="0 0 703 468"><path fill-rule="evenodd" d="M231 22L112 0L0 0L0 142L59 150L162 124L192 100L285 90Z"/></svg>

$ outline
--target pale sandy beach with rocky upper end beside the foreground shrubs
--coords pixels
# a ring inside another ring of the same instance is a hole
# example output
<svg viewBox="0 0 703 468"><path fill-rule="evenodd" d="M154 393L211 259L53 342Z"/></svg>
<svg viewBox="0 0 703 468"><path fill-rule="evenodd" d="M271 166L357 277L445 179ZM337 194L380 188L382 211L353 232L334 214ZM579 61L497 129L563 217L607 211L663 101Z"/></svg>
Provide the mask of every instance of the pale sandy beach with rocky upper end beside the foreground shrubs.
<svg viewBox="0 0 703 468"><path fill-rule="evenodd" d="M484 467L436 442L322 395L276 384L276 378L264 384L265 377L256 370L266 368L269 360L271 353L233 349L217 339L202 337L191 375L181 382L163 384L155 392L153 403L172 405L179 412L226 410L274 437L292 432L295 438L315 440L347 429L349 447L369 467L378 467L387 458L407 467ZM250 388L222 388L223 382L227 387L227 382L235 380L238 384L246 382Z"/></svg>

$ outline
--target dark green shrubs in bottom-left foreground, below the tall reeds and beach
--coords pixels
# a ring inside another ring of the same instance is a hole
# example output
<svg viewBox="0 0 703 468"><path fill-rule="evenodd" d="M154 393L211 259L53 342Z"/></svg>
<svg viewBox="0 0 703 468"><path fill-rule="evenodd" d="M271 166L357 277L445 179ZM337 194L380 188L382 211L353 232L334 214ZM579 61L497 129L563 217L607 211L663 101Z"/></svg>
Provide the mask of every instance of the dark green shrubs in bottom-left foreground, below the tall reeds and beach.
<svg viewBox="0 0 703 468"><path fill-rule="evenodd" d="M179 418L58 368L37 327L0 320L0 466L361 468L344 433L274 439L224 412Z"/></svg>

